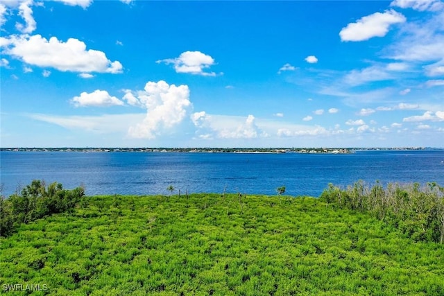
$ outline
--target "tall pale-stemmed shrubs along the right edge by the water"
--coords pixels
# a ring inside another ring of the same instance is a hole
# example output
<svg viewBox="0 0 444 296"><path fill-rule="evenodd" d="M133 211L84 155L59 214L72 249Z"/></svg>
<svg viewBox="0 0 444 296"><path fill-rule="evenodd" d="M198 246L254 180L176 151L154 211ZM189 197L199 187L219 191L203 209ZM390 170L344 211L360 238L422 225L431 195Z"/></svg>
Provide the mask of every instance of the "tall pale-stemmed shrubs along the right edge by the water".
<svg viewBox="0 0 444 296"><path fill-rule="evenodd" d="M415 241L444 242L444 187L356 182L346 189L329 184L321 200L340 208L370 212Z"/></svg>

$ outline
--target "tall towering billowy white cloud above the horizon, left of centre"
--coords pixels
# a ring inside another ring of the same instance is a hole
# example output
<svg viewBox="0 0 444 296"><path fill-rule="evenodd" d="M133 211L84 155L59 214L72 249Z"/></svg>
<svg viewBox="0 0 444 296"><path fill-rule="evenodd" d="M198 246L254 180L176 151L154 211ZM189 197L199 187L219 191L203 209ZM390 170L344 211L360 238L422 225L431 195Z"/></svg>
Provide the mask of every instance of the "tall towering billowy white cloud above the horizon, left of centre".
<svg viewBox="0 0 444 296"><path fill-rule="evenodd" d="M123 96L131 105L146 109L142 123L129 128L130 137L155 139L164 130L171 130L181 123L191 107L187 85L169 85L167 82L147 82L143 91L126 91Z"/></svg>

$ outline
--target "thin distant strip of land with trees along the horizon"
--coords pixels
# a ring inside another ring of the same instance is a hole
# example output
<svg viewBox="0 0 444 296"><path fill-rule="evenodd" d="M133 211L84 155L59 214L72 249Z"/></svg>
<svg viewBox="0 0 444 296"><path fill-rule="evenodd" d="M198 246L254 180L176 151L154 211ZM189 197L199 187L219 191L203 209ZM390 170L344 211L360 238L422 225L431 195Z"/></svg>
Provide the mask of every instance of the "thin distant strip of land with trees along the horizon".
<svg viewBox="0 0 444 296"><path fill-rule="evenodd" d="M0 152L139 152L139 153L354 153L360 150L444 150L430 147L391 148L0 148Z"/></svg>

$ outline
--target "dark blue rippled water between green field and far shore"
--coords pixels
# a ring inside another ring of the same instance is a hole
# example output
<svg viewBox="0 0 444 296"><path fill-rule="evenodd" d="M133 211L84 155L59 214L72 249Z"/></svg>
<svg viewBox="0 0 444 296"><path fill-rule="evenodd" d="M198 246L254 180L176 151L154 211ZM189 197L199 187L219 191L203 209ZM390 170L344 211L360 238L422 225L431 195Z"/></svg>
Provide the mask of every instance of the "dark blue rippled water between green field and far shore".
<svg viewBox="0 0 444 296"><path fill-rule="evenodd" d="M87 195L167 194L188 191L318 196L328 183L437 182L444 186L444 150L300 153L69 153L2 152L3 195L32 180L85 186Z"/></svg>

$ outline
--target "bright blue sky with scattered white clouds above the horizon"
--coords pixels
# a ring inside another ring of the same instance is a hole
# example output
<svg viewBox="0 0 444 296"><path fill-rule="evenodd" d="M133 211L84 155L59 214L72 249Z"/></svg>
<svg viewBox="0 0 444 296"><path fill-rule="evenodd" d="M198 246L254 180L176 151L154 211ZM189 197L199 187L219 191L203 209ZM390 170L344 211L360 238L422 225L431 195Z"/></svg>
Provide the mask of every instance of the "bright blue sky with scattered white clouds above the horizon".
<svg viewBox="0 0 444 296"><path fill-rule="evenodd" d="M1 147L444 146L444 3L0 0Z"/></svg>

